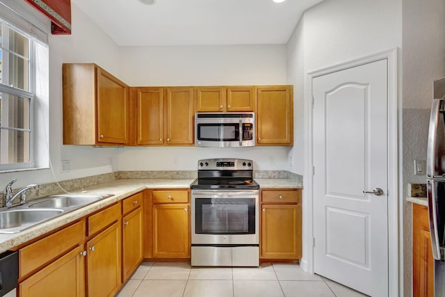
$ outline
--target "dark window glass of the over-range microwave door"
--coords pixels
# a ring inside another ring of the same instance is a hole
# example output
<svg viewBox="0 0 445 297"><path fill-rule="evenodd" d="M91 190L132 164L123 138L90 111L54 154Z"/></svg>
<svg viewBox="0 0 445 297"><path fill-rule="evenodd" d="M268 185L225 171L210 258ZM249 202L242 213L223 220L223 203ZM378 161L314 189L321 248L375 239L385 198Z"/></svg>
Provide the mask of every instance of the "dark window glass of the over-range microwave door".
<svg viewBox="0 0 445 297"><path fill-rule="evenodd" d="M200 141L238 141L239 124L198 124L197 139Z"/></svg>

